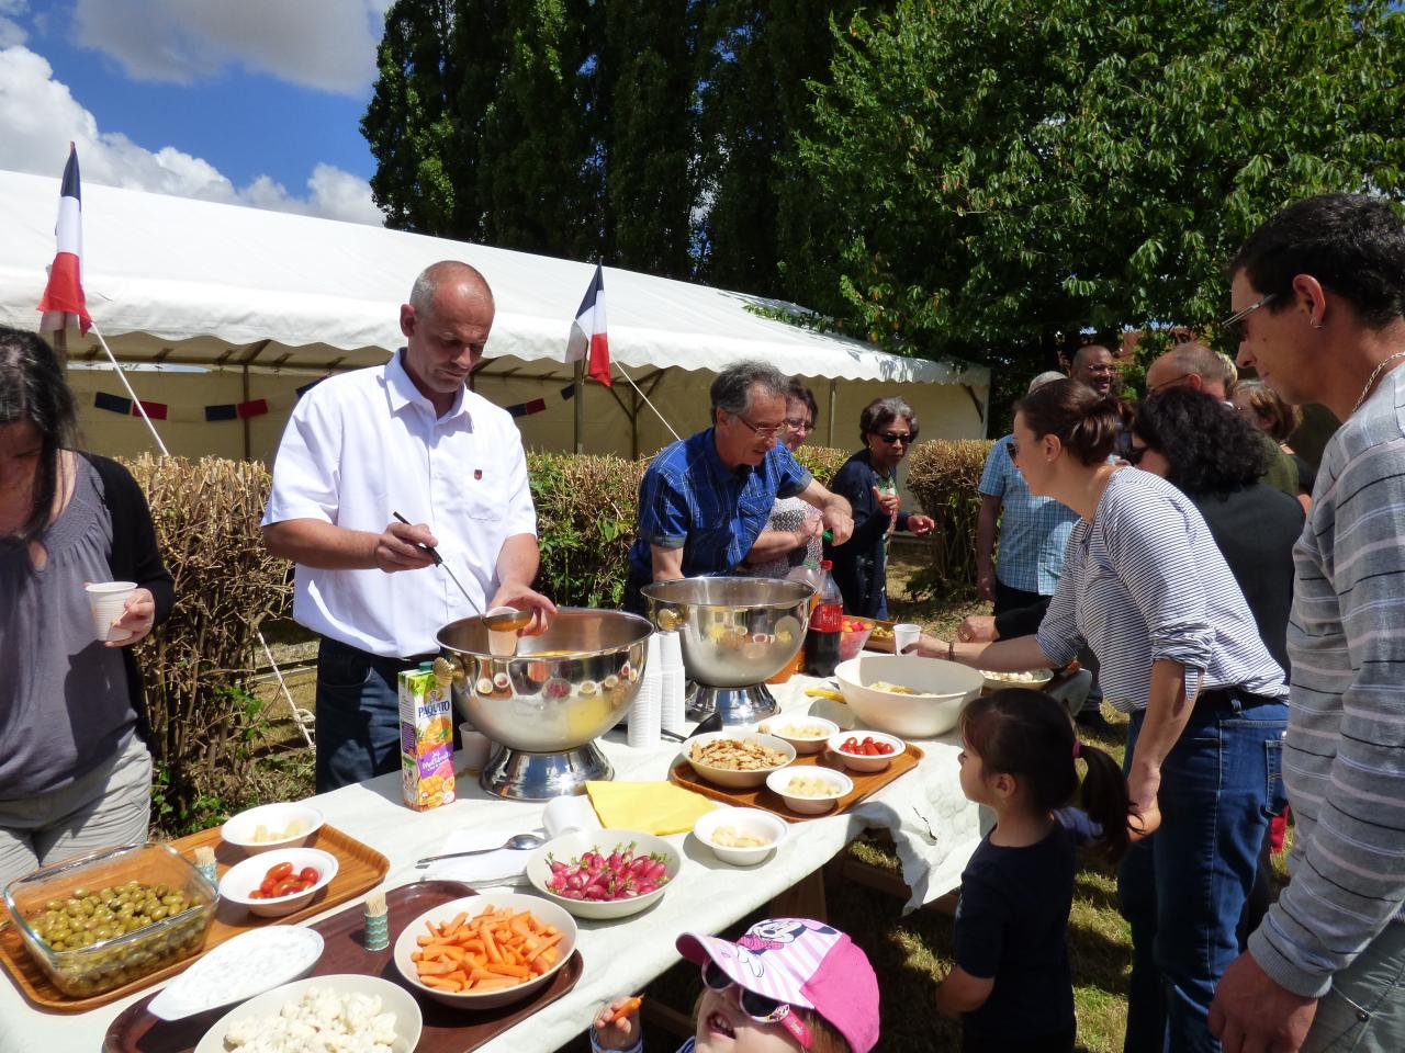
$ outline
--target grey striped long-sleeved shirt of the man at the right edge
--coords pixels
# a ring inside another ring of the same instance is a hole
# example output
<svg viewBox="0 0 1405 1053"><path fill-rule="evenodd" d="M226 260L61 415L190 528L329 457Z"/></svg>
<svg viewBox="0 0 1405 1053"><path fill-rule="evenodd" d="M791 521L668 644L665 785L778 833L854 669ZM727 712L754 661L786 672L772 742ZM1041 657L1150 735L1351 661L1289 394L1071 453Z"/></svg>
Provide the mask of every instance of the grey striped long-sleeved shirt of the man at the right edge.
<svg viewBox="0 0 1405 1053"><path fill-rule="evenodd" d="M1293 882L1249 951L1319 997L1405 903L1405 368L1328 442L1293 556Z"/></svg>

